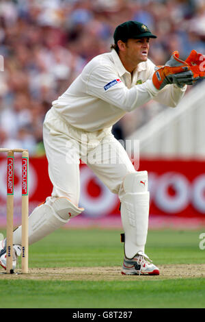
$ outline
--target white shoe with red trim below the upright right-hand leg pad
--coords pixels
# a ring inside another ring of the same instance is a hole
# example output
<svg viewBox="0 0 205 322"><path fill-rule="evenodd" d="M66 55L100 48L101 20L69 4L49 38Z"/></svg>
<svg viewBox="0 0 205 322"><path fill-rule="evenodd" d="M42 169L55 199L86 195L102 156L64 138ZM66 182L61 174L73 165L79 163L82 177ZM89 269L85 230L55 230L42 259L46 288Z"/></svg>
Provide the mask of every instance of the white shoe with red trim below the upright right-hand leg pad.
<svg viewBox="0 0 205 322"><path fill-rule="evenodd" d="M159 275L159 268L151 263L146 253L139 251L131 260L124 256L122 275Z"/></svg>

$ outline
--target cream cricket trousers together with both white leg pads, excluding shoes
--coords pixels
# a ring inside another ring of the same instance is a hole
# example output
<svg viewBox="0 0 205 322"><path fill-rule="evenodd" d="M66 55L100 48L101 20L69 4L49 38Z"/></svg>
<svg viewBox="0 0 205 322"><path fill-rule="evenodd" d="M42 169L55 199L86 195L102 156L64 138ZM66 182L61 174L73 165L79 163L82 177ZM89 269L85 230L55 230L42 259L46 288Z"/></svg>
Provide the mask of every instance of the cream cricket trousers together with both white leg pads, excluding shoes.
<svg viewBox="0 0 205 322"><path fill-rule="evenodd" d="M76 129L51 108L46 114L43 134L53 192L29 216L29 245L83 210L78 208L81 159L112 193L118 194L126 258L133 258L139 251L144 251L149 214L148 173L135 171L111 129L97 132ZM20 245L20 242L21 227L18 227L14 232L14 243Z"/></svg>

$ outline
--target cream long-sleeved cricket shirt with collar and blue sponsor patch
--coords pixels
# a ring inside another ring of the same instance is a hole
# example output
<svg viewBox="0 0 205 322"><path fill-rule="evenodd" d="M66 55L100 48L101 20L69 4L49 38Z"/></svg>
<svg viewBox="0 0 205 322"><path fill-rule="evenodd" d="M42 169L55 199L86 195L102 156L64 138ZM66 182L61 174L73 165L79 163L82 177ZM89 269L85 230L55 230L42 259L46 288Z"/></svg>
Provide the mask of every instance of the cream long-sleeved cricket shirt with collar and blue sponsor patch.
<svg viewBox="0 0 205 322"><path fill-rule="evenodd" d="M167 85L156 90L152 84L154 66L150 60L141 62L132 76L114 49L102 53L93 58L66 92L53 101L53 109L73 127L94 132L111 127L126 112L150 99L175 107L187 86Z"/></svg>

